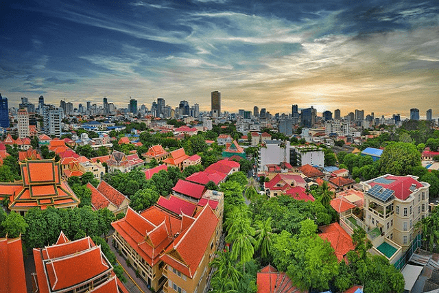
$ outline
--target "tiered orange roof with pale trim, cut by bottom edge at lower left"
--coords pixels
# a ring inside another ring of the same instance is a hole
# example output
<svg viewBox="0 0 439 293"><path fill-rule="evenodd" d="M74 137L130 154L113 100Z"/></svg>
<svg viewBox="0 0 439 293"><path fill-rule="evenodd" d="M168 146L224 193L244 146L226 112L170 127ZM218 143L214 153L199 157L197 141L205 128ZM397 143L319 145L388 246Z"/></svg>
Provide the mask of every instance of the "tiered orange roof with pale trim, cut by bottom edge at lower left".
<svg viewBox="0 0 439 293"><path fill-rule="evenodd" d="M34 248L35 293L128 293L113 267L91 237L69 241L60 233L56 244Z"/></svg>

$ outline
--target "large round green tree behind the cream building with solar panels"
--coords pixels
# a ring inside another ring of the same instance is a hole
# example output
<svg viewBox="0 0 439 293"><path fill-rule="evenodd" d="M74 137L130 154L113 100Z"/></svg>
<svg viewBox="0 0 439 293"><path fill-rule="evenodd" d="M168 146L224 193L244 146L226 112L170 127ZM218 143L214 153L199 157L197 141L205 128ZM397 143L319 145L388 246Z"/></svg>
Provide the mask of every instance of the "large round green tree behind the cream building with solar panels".
<svg viewBox="0 0 439 293"><path fill-rule="evenodd" d="M420 153L412 143L390 143L379 159L382 174L405 176L420 165Z"/></svg>

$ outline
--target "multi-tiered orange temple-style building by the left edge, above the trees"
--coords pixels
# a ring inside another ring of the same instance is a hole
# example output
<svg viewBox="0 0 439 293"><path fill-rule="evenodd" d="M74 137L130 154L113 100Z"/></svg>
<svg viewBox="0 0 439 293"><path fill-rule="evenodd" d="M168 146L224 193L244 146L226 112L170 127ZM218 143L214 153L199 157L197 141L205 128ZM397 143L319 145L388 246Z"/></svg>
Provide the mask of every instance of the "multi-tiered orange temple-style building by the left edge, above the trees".
<svg viewBox="0 0 439 293"><path fill-rule="evenodd" d="M80 200L61 176L60 163L51 160L26 160L20 163L23 180L0 183L0 198L8 208L24 215L34 207L56 209L78 207Z"/></svg>

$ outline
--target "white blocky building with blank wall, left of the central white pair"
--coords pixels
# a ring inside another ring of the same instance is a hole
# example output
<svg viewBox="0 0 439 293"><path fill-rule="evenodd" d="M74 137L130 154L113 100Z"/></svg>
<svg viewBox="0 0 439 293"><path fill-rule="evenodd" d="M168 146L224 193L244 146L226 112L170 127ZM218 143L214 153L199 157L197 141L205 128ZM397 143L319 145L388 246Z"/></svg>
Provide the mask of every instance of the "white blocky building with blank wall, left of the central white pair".
<svg viewBox="0 0 439 293"><path fill-rule="evenodd" d="M258 172L268 171L266 165L289 163L289 141L265 140L259 148Z"/></svg>

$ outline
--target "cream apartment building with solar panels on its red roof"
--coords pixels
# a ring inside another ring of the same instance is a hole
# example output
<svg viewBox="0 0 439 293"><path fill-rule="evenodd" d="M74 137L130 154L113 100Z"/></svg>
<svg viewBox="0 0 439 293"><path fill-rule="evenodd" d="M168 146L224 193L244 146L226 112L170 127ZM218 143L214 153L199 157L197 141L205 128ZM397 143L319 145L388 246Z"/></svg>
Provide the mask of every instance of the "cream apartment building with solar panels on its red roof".
<svg viewBox="0 0 439 293"><path fill-rule="evenodd" d="M362 182L364 222L405 250L418 234L414 226L428 216L429 184L416 176L386 174Z"/></svg>

